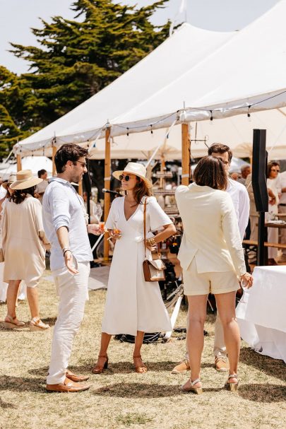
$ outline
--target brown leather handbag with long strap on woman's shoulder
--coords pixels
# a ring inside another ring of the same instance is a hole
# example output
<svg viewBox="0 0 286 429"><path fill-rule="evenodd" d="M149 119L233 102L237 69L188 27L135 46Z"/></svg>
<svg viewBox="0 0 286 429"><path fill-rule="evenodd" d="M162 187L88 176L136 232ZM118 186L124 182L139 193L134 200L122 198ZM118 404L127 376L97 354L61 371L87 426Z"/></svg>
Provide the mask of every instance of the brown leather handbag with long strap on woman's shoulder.
<svg viewBox="0 0 286 429"><path fill-rule="evenodd" d="M146 205L147 198L144 201L144 249L145 249L145 259L143 261L143 273L145 281L162 281L165 280L165 269L166 266L161 259L160 245L157 243L158 247L158 257L159 259L147 259L146 256Z"/></svg>

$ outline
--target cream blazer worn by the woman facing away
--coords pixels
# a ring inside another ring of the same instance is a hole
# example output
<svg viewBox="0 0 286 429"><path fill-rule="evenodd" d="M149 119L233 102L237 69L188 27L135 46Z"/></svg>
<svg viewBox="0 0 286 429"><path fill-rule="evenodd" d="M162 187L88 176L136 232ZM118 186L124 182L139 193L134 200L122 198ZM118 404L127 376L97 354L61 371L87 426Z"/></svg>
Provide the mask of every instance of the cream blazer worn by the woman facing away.
<svg viewBox="0 0 286 429"><path fill-rule="evenodd" d="M198 274L245 274L242 239L230 195L192 183L189 187L179 186L175 196L184 225L178 254L181 267L188 269L195 258Z"/></svg>

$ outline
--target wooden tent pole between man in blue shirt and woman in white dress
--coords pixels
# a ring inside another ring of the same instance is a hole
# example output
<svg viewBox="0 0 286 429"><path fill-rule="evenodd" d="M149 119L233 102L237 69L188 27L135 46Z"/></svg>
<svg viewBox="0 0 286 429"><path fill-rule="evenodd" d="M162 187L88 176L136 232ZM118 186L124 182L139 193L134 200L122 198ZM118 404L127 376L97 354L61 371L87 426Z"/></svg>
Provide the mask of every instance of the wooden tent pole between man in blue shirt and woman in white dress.
<svg viewBox="0 0 286 429"><path fill-rule="evenodd" d="M105 130L105 189L110 189L110 174L111 174L111 161L110 161L110 127ZM110 194L105 192L105 207L104 207L104 221L107 221L107 216L110 208ZM103 260L109 260L109 242L105 234L104 247L103 247Z"/></svg>

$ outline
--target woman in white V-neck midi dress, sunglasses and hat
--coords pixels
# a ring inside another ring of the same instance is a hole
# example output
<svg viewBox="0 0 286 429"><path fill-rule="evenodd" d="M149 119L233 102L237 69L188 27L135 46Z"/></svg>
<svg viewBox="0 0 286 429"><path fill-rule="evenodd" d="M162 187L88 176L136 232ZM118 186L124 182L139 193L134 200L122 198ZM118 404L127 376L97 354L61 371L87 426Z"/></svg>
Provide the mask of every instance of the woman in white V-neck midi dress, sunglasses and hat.
<svg viewBox="0 0 286 429"><path fill-rule="evenodd" d="M146 200L147 257L155 244L176 232L169 217L154 196L152 182L146 179L146 169L140 163L128 163L113 176L121 180L125 196L112 202L105 228L116 241L110 268L105 315L97 364L100 374L107 368L107 348L112 334L131 334L135 338L133 361L136 372L146 372L141 359L144 332L170 331L169 315L157 282L146 282L143 276L144 228L143 208ZM151 231L160 230L157 235Z"/></svg>

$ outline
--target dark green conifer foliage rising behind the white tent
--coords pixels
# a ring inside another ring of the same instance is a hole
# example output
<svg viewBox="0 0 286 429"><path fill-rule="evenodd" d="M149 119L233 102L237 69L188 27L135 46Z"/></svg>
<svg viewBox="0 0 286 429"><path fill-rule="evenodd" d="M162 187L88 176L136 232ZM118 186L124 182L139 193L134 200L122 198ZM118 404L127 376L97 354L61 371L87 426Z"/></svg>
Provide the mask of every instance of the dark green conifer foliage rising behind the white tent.
<svg viewBox="0 0 286 429"><path fill-rule="evenodd" d="M136 9L112 0L76 0L74 20L54 16L32 28L37 47L11 44L30 69L21 76L0 70L1 141L22 139L66 114L160 45L169 23L156 28L150 18L166 2Z"/></svg>

